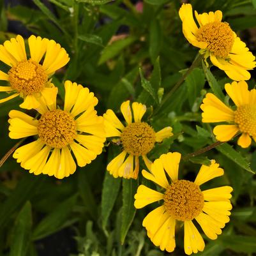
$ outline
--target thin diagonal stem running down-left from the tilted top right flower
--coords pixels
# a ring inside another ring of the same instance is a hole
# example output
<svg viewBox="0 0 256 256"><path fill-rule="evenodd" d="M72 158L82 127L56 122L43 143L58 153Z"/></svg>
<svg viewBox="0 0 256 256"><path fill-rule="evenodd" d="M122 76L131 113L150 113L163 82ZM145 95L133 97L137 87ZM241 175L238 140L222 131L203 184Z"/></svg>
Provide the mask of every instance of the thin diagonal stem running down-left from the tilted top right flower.
<svg viewBox="0 0 256 256"><path fill-rule="evenodd" d="M159 104L159 106L155 110L154 116L159 112L160 109L162 109L163 104L165 102L167 102L167 100L170 98L170 96L172 96L172 94L177 90L177 88L179 88L179 86L181 86L181 84L183 84L184 80L186 79L186 77L188 77L188 75L192 72L192 70L199 65L199 63L201 62L203 57L204 57L203 55L197 54L197 56L195 57L193 63L191 64L190 68L188 68L188 70L186 70L186 73L184 73L184 75L181 77L181 79L179 79L177 81L176 85L174 87L172 87L172 89L169 91L169 93L167 93L165 95L165 97L163 98L162 102Z"/></svg>

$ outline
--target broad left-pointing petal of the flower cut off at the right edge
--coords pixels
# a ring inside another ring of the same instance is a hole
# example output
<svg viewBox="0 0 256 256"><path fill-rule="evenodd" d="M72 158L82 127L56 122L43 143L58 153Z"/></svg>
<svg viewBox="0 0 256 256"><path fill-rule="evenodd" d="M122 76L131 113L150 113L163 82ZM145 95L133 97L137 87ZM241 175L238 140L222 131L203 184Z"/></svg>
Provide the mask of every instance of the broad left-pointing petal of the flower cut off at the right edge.
<svg viewBox="0 0 256 256"><path fill-rule="evenodd" d="M223 121L234 121L234 112L227 107L215 94L207 93L203 104L200 105L202 113L202 122L217 123Z"/></svg>

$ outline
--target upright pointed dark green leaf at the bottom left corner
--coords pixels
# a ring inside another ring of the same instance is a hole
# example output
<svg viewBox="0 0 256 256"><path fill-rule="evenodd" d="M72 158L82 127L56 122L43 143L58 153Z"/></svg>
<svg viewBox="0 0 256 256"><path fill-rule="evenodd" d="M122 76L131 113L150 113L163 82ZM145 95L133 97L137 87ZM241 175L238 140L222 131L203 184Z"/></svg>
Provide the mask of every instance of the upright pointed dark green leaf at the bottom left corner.
<svg viewBox="0 0 256 256"><path fill-rule="evenodd" d="M32 214L31 204L26 202L22 207L13 230L11 239L10 256L26 256L31 242Z"/></svg>

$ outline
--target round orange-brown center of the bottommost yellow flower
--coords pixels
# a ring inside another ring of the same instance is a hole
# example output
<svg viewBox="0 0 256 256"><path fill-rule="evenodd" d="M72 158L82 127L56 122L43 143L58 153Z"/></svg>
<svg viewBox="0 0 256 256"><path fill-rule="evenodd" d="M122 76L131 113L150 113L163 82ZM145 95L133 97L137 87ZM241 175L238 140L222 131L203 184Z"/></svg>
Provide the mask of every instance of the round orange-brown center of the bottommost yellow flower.
<svg viewBox="0 0 256 256"><path fill-rule="evenodd" d="M202 212L204 195L199 186L184 179L170 184L163 196L165 211L176 220L193 220Z"/></svg>

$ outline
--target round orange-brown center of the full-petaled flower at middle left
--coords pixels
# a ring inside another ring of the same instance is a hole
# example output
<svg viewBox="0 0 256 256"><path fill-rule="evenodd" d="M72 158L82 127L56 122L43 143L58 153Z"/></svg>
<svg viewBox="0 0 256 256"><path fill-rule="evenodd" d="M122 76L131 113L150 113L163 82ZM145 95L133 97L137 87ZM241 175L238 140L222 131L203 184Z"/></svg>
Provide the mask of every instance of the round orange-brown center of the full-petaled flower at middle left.
<svg viewBox="0 0 256 256"><path fill-rule="evenodd" d="M77 135L75 120L61 109L45 112L38 121L38 135L47 146L63 148Z"/></svg>

